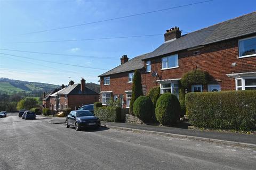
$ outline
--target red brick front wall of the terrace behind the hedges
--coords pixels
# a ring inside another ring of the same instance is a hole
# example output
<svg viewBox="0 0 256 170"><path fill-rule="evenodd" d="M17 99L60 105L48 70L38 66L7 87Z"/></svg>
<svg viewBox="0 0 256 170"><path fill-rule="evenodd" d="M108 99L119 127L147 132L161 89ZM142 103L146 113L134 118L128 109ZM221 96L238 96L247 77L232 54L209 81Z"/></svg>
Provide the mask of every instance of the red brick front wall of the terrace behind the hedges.
<svg viewBox="0 0 256 170"><path fill-rule="evenodd" d="M194 52L198 50L199 54L194 55ZM229 78L226 74L256 71L255 56L238 58L238 38L206 45L191 51L182 50L178 55L179 67L169 70L161 70L163 56L151 58L151 71L156 71L158 77L152 77L152 72L146 73L145 69L141 70L142 85L146 84L147 92L152 87L159 86L156 80L178 79L195 67L209 72L212 81L218 82L221 90L235 90L234 78ZM235 67L231 66L234 62L236 63ZM124 108L126 107L124 91L132 89L132 83L128 83L128 74L129 72L110 75L110 85L103 85L103 77L100 82L101 91L113 91L113 95L124 95ZM207 86L203 89L207 91Z"/></svg>

